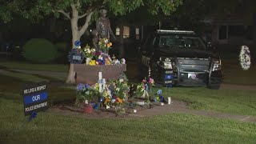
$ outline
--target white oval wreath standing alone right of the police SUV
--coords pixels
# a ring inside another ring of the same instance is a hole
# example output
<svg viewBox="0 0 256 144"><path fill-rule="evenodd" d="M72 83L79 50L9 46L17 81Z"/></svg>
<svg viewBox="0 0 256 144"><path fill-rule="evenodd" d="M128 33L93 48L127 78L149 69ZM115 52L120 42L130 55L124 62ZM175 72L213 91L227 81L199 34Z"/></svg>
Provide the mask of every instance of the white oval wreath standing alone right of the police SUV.
<svg viewBox="0 0 256 144"><path fill-rule="evenodd" d="M250 50L247 46L242 46L239 54L239 61L242 70L249 70L250 68Z"/></svg>

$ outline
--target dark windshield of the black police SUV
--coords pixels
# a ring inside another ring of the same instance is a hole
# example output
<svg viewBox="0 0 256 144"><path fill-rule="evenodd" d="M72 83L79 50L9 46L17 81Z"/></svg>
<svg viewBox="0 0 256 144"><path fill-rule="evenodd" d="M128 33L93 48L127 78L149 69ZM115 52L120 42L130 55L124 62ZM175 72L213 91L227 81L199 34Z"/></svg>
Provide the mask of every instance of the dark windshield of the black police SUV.
<svg viewBox="0 0 256 144"><path fill-rule="evenodd" d="M170 47L180 47L180 48L190 48L198 50L206 50L206 46L202 40L198 37L190 36L178 36L178 35L165 35L160 36L159 46L170 46Z"/></svg>

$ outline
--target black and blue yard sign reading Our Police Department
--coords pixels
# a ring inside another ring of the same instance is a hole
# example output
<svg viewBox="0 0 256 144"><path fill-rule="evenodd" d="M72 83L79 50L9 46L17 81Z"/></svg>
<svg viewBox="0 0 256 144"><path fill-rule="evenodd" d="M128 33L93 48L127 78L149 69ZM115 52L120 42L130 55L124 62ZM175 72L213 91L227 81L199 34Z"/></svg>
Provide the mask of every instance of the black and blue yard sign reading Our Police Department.
<svg viewBox="0 0 256 144"><path fill-rule="evenodd" d="M48 94L45 82L24 86L22 94L25 115L30 115L48 108Z"/></svg>

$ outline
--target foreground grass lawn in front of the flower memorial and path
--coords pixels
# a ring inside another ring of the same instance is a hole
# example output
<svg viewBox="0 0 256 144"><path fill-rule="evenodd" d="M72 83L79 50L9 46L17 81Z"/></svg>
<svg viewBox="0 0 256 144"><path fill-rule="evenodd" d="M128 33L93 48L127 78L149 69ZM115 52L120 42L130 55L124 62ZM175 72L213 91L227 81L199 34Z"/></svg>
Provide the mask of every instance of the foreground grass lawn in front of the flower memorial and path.
<svg viewBox="0 0 256 144"><path fill-rule="evenodd" d="M255 123L190 114L87 119L42 113L26 122L22 103L1 102L6 104L1 105L1 143L254 143L256 139Z"/></svg>

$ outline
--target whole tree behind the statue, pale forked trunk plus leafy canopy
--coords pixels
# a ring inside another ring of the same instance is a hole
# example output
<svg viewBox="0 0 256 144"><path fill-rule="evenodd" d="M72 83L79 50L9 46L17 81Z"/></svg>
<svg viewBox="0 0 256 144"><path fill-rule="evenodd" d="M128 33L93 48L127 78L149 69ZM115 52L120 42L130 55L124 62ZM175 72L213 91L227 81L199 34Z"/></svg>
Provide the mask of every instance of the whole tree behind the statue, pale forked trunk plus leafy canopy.
<svg viewBox="0 0 256 144"><path fill-rule="evenodd" d="M125 15L140 6L146 6L151 14L170 15L181 4L182 0L6 0L0 2L0 19L8 22L14 18L14 14L20 14L36 21L52 13L56 17L63 14L70 20L74 45L85 33L93 15L101 8L114 15ZM78 26L78 20L82 18L86 20L82 26ZM74 76L74 65L71 64L66 82L74 83Z"/></svg>

